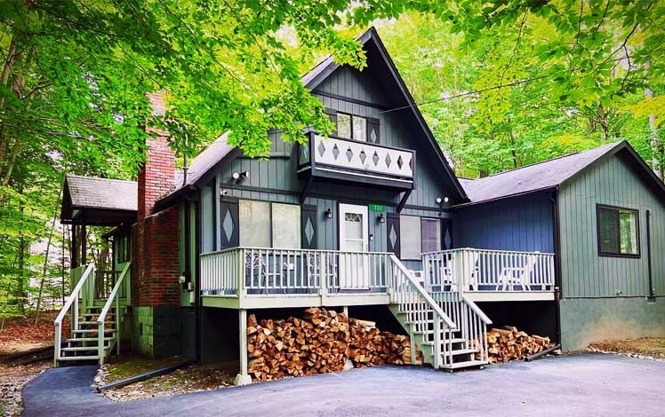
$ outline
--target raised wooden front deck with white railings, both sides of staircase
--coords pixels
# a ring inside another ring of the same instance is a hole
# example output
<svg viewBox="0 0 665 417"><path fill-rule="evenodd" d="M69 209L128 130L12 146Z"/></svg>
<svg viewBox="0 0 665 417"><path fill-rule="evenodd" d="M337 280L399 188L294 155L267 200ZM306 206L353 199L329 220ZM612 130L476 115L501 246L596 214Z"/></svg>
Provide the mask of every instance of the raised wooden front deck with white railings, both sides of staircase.
<svg viewBox="0 0 665 417"><path fill-rule="evenodd" d="M389 253L230 248L201 256L206 307L261 309L390 303ZM554 256L454 249L424 254L417 273L430 294L471 301L554 299Z"/></svg>

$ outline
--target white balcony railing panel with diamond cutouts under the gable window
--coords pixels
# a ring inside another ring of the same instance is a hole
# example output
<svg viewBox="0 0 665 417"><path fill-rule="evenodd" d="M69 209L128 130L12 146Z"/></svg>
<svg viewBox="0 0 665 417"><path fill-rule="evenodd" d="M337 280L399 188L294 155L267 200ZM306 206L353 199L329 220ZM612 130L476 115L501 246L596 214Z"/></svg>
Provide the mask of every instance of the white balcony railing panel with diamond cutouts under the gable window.
<svg viewBox="0 0 665 417"><path fill-rule="evenodd" d="M324 171L413 181L415 153L369 142L312 135L308 144L300 147L299 163L301 167L311 165Z"/></svg>

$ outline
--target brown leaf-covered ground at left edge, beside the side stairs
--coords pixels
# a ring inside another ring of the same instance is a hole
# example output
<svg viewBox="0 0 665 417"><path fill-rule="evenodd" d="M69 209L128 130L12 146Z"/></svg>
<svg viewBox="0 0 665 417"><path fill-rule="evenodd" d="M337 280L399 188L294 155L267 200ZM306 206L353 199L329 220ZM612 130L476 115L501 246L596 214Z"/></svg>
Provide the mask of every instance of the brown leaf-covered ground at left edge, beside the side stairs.
<svg viewBox="0 0 665 417"><path fill-rule="evenodd" d="M44 369L52 366L52 358L23 364L20 354L53 344L53 319L57 311L44 311L37 323L34 317L12 318L0 331L0 416L13 417L21 413L21 389ZM68 323L63 324L69 328ZM63 334L67 337L68 334ZM50 352L44 352L46 356ZM44 357L44 353L39 356Z"/></svg>

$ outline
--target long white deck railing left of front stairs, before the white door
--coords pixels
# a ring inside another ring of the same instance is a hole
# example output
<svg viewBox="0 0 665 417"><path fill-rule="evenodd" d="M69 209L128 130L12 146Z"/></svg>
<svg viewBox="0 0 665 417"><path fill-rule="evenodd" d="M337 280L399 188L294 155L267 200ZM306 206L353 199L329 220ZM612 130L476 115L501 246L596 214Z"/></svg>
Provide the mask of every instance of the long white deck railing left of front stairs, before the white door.
<svg viewBox="0 0 665 417"><path fill-rule="evenodd" d="M201 290L207 294L334 294L386 292L384 252L229 248L201 256Z"/></svg>

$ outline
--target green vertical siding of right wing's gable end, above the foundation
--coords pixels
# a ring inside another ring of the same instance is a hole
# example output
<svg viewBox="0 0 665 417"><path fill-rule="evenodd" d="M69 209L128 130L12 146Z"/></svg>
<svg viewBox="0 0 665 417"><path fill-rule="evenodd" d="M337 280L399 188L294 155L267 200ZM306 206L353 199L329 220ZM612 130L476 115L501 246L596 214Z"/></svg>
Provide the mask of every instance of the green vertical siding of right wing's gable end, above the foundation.
<svg viewBox="0 0 665 417"><path fill-rule="evenodd" d="M640 257L598 256L596 205L639 210ZM650 210L653 287L665 295L665 207L618 154L562 186L559 193L564 297L646 296L646 210ZM619 294L618 294L619 293Z"/></svg>

